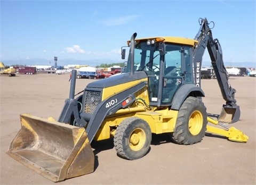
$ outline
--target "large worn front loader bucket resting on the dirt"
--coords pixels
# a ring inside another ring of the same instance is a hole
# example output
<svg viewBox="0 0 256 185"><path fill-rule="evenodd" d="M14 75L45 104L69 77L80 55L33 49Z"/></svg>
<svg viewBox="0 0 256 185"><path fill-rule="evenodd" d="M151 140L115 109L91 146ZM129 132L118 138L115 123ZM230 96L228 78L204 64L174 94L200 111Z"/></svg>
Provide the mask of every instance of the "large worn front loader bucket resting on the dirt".
<svg viewBox="0 0 256 185"><path fill-rule="evenodd" d="M21 114L21 129L7 154L53 182L94 171L84 128Z"/></svg>

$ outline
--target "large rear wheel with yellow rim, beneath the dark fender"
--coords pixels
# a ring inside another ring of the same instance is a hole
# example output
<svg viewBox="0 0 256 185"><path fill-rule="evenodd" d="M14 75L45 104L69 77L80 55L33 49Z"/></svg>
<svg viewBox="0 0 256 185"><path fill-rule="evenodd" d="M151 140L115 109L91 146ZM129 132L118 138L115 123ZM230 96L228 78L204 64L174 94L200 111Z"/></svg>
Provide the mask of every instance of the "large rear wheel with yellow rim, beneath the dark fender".
<svg viewBox="0 0 256 185"><path fill-rule="evenodd" d="M172 139L180 145L201 142L206 131L207 113L203 102L188 97L180 107Z"/></svg>

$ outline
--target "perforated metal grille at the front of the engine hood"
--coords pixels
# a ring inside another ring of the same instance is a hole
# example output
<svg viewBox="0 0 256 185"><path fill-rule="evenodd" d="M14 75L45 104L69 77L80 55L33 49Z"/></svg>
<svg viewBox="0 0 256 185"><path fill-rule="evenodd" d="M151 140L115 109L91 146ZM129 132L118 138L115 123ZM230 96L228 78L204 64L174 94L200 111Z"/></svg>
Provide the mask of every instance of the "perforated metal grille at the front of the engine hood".
<svg viewBox="0 0 256 185"><path fill-rule="evenodd" d="M86 90L84 98L84 112L92 114L101 102L101 91Z"/></svg>

